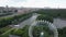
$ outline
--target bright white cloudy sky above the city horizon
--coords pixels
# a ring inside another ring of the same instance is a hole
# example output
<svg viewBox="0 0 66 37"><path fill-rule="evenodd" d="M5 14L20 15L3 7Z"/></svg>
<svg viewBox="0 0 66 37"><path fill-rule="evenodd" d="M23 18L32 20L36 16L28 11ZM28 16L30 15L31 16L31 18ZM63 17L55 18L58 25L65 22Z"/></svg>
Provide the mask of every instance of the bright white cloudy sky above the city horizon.
<svg viewBox="0 0 66 37"><path fill-rule="evenodd" d="M66 8L66 0L0 0L0 7Z"/></svg>

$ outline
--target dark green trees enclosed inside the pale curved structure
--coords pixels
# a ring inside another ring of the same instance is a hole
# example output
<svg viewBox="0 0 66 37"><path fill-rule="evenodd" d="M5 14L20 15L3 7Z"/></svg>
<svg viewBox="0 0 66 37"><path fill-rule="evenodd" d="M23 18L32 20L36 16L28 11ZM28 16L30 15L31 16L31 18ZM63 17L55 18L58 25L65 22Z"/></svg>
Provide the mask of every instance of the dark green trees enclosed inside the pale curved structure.
<svg viewBox="0 0 66 37"><path fill-rule="evenodd" d="M33 36L34 37L40 37L41 33L44 33L44 37L51 37L53 36L53 32L48 29L47 26L34 26L33 28Z"/></svg>

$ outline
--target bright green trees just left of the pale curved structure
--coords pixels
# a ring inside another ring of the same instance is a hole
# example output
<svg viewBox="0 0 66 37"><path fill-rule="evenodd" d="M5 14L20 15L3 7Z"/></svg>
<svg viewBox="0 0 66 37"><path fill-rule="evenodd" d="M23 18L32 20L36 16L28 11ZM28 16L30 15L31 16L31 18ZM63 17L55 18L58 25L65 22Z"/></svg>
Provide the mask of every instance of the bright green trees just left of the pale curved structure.
<svg viewBox="0 0 66 37"><path fill-rule="evenodd" d="M23 28L19 28L18 30L12 30L11 35L16 35L21 37L29 37L29 26L25 26Z"/></svg>

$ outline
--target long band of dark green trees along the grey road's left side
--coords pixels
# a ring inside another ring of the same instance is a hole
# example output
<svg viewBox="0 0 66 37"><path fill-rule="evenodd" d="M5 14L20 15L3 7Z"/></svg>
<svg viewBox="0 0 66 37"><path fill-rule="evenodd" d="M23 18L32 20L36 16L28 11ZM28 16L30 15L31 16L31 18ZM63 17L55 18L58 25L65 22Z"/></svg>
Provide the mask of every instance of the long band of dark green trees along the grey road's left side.
<svg viewBox="0 0 66 37"><path fill-rule="evenodd" d="M28 13L28 14L19 14L19 15L14 15L14 16L1 17L0 18L0 27L4 27L4 26L11 25L11 24L15 25L31 16L32 16L32 14Z"/></svg>

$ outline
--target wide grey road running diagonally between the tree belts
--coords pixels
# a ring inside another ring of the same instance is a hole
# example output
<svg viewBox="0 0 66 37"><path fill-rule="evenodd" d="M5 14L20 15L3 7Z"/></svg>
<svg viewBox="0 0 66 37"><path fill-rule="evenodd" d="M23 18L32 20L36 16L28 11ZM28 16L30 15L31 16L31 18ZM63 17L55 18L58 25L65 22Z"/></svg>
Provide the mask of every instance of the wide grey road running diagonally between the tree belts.
<svg viewBox="0 0 66 37"><path fill-rule="evenodd" d="M18 25L11 25L13 28L22 28L24 27L25 25L31 25L35 20L36 17L38 16L38 14L33 14L32 17L23 21L22 23L18 24Z"/></svg>

